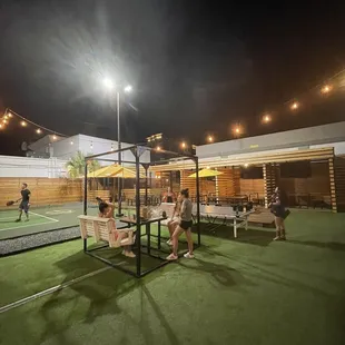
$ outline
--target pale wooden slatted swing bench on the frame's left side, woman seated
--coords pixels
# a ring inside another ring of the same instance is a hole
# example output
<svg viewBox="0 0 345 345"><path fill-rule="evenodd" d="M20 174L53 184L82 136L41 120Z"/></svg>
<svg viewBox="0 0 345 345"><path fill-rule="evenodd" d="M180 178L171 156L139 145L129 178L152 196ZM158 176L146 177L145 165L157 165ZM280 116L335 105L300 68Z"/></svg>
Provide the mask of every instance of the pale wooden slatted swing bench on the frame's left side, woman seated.
<svg viewBox="0 0 345 345"><path fill-rule="evenodd" d="M135 241L134 229L116 228L116 223L111 218L85 215L81 215L78 218L80 221L81 238L83 239L95 237L96 241L108 241L109 247L111 248L130 246Z"/></svg>

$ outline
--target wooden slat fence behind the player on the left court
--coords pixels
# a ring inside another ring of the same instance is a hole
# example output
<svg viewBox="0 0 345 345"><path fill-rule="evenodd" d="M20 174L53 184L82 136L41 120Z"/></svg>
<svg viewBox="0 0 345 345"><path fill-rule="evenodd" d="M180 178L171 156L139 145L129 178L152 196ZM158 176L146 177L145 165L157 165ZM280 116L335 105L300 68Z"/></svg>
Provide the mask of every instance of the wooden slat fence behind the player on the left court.
<svg viewBox="0 0 345 345"><path fill-rule="evenodd" d="M33 206L75 203L82 199L81 179L1 177L0 195L3 204L20 198L23 183L28 184L31 191L30 203Z"/></svg>

